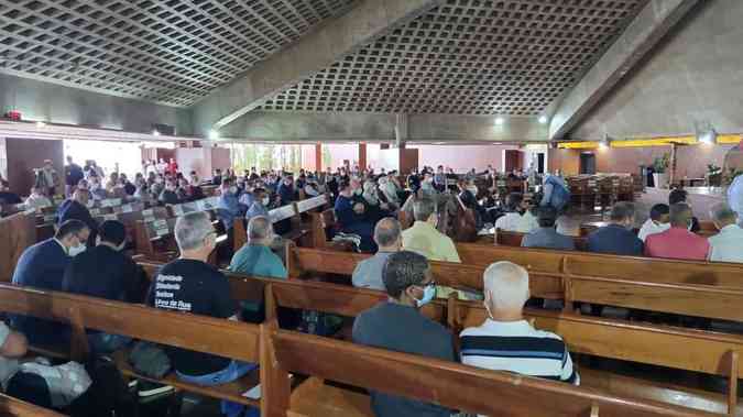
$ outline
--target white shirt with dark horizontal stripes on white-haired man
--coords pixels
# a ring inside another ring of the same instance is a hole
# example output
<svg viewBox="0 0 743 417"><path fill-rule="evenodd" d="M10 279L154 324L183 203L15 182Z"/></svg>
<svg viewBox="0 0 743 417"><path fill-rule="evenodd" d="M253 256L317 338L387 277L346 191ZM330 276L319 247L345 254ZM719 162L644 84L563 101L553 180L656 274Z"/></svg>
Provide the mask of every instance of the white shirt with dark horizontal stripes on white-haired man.
<svg viewBox="0 0 743 417"><path fill-rule="evenodd" d="M525 320L488 319L480 327L465 329L459 337L465 364L580 384L562 339L536 330Z"/></svg>

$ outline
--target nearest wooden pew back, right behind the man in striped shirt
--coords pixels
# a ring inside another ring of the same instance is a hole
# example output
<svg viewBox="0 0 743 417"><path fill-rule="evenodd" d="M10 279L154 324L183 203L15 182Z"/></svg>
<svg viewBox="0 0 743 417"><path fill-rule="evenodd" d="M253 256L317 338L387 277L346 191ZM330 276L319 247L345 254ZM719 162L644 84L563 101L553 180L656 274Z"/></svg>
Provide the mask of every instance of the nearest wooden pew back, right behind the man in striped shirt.
<svg viewBox="0 0 743 417"><path fill-rule="evenodd" d="M296 372L490 416L715 416L527 376L276 330L277 372ZM306 358L313 358L307 361ZM394 375L393 377L391 377ZM425 382L422 384L422 381ZM283 408L283 409L282 409ZM269 416L293 415L288 403Z"/></svg>

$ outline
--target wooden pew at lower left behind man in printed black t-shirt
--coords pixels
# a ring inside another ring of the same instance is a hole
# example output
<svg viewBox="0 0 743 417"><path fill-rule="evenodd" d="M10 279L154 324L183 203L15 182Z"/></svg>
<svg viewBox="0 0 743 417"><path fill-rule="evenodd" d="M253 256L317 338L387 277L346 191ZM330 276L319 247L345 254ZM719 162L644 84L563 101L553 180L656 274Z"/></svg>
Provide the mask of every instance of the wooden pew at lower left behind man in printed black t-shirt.
<svg viewBox="0 0 743 417"><path fill-rule="evenodd" d="M260 361L261 332L258 325L12 285L0 285L0 311L69 323L73 329L69 358L77 361L84 360L89 352L86 329L244 362ZM117 366L127 376L172 385L212 398L260 406L259 402L242 396L258 384L255 372L234 383L204 387L181 382L174 373L163 380L140 375L129 365L125 351L116 352L113 358Z"/></svg>

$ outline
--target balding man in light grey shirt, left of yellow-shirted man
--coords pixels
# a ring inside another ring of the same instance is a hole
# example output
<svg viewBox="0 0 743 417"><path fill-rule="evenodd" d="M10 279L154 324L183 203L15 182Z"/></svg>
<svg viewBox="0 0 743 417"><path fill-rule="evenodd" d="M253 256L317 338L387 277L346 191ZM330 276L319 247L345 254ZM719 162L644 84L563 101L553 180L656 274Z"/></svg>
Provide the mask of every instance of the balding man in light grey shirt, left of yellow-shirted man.
<svg viewBox="0 0 743 417"><path fill-rule="evenodd" d="M380 248L376 254L359 262L353 270L351 282L354 287L384 290L382 270L387 259L402 246L402 228L400 222L387 217L380 220L374 228L374 242Z"/></svg>

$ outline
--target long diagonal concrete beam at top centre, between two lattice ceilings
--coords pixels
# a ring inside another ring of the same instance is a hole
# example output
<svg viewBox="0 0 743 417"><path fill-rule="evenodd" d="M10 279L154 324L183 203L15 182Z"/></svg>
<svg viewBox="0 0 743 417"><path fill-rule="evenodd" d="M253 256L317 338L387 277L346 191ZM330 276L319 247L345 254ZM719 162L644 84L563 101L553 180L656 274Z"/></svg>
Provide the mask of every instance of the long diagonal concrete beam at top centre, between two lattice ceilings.
<svg viewBox="0 0 743 417"><path fill-rule="evenodd" d="M221 129L297 83L405 24L444 0L361 0L193 107L199 133Z"/></svg>

